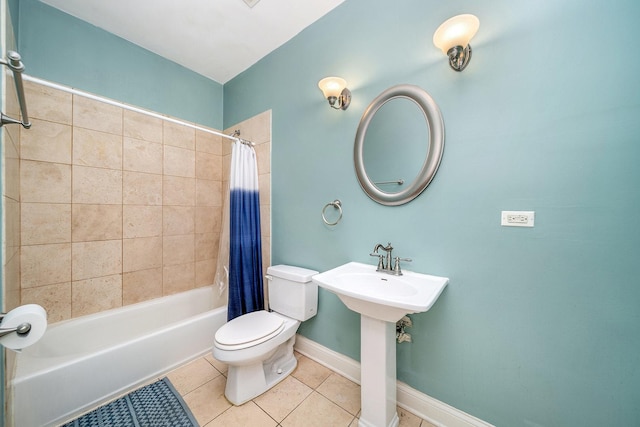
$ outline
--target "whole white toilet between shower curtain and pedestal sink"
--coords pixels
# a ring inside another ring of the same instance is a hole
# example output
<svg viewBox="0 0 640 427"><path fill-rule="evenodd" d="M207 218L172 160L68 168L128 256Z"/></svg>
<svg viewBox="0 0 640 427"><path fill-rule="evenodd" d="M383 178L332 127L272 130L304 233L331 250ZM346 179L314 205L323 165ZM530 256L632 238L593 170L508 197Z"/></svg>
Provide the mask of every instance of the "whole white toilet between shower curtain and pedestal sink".
<svg viewBox="0 0 640 427"><path fill-rule="evenodd" d="M269 306L224 324L216 332L213 356L229 366L224 391L241 405L285 379L298 361L293 344L300 322L318 311L317 271L289 265L267 269Z"/></svg>

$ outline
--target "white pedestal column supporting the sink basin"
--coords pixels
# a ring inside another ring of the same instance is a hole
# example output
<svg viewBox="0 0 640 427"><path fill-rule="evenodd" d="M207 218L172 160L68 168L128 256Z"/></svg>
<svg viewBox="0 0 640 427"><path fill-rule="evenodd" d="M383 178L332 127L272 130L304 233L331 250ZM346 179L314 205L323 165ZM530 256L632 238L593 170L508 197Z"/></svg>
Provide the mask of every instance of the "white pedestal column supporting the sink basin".
<svg viewBox="0 0 640 427"><path fill-rule="evenodd" d="M360 315L359 427L397 427L396 325Z"/></svg>

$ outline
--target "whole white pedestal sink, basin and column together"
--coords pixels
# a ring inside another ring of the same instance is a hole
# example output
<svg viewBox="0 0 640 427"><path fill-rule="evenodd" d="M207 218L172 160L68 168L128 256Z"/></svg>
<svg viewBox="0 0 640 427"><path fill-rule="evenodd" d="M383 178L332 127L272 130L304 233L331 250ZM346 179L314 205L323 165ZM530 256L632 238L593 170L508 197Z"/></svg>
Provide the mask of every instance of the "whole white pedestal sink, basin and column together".
<svg viewBox="0 0 640 427"><path fill-rule="evenodd" d="M360 427L396 427L396 328L405 314L427 311L449 279L405 271L376 272L373 265L350 262L313 276L313 281L360 313Z"/></svg>

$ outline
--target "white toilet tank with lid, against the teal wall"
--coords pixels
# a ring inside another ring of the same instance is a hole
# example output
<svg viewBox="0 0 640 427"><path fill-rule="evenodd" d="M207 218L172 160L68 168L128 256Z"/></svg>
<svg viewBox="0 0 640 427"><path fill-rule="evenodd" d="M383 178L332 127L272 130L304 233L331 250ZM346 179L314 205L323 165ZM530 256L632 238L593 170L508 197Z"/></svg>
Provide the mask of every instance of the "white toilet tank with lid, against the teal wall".
<svg viewBox="0 0 640 427"><path fill-rule="evenodd" d="M267 268L269 308L296 320L307 320L318 312L318 285L311 277L315 270L291 265Z"/></svg>

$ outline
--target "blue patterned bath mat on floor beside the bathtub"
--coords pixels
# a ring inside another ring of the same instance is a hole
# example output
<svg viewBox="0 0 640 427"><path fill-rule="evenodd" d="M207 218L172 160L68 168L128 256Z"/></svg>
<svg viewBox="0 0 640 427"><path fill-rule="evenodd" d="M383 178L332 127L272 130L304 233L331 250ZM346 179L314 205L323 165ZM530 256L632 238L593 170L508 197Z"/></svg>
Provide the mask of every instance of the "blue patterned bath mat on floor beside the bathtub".
<svg viewBox="0 0 640 427"><path fill-rule="evenodd" d="M114 400L63 427L198 427L168 378Z"/></svg>

